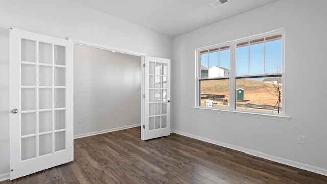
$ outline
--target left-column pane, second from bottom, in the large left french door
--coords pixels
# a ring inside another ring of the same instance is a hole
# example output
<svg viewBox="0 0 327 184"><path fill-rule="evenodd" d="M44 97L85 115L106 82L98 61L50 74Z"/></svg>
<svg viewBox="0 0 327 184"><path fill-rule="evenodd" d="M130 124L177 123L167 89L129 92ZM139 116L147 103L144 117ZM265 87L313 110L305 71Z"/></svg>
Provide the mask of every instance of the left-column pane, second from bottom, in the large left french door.
<svg viewBox="0 0 327 184"><path fill-rule="evenodd" d="M21 114L21 135L29 135L36 133L36 113Z"/></svg>

